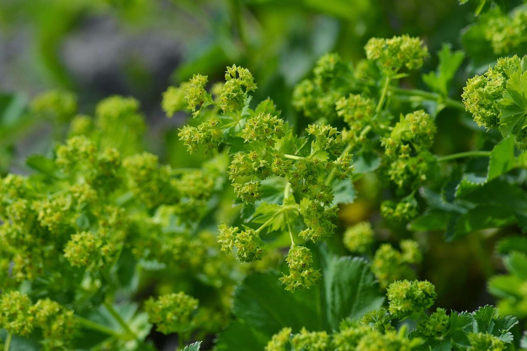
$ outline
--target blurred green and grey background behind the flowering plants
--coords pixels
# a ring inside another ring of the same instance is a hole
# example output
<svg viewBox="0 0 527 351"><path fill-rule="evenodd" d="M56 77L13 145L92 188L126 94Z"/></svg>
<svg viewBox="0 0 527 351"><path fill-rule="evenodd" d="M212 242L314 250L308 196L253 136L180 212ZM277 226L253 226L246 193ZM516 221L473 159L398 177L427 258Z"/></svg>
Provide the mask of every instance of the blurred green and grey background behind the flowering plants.
<svg viewBox="0 0 527 351"><path fill-rule="evenodd" d="M321 55L337 52L356 62L370 37L407 33L428 46L428 72L442 43L463 48L464 28L475 21L472 5L457 0L2 0L0 173L26 172L27 155L49 152L60 139L27 113L31 98L47 89L75 93L87 115L102 98L137 98L148 121L147 149L184 167L199 156L191 159L177 138L187 117L168 119L161 110L169 85L194 73L214 82L236 63L255 77L256 101L270 96L282 117L294 118L292 88ZM454 84L456 99L477 69L465 62ZM421 77L404 84L422 86ZM446 127L439 122L440 131ZM438 143L453 148L448 138ZM368 201L359 196L341 211L343 223L368 218L375 206ZM482 268L472 262L466 242L445 244L438 233L428 243L436 247L422 275L436 284L438 305L471 310L489 302Z"/></svg>

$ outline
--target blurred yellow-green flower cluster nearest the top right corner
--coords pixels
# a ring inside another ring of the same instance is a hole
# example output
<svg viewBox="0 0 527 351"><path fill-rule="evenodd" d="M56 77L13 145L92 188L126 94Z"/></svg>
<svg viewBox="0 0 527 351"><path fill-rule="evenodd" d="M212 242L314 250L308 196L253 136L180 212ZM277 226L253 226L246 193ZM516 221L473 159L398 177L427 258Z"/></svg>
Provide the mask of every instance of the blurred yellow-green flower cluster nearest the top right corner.
<svg viewBox="0 0 527 351"><path fill-rule="evenodd" d="M527 43L527 8L519 7L509 16L497 15L485 23L485 39L491 42L494 54L509 54Z"/></svg>

